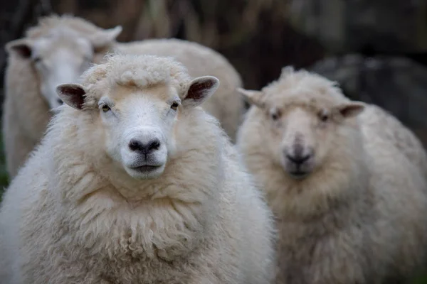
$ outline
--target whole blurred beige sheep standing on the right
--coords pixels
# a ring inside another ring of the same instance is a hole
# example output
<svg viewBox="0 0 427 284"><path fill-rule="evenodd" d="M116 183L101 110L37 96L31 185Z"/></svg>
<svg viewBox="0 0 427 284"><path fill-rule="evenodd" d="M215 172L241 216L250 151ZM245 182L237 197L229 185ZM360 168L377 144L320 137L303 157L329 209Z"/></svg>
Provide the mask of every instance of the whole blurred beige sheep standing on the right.
<svg viewBox="0 0 427 284"><path fill-rule="evenodd" d="M379 284L416 273L426 261L426 179L378 121L363 118L367 104L293 67L239 92L251 108L237 147L277 220L276 283Z"/></svg>

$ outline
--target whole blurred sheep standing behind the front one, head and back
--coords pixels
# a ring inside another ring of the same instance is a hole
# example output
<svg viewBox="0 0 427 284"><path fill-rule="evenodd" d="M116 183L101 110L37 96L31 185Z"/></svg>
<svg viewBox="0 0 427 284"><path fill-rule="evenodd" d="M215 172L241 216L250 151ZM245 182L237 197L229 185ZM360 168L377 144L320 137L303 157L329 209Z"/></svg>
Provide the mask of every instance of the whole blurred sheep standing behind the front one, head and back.
<svg viewBox="0 0 427 284"><path fill-rule="evenodd" d="M235 139L244 102L236 92L241 77L222 55L186 40L144 40L117 43L122 27L103 30L82 18L48 16L30 28L26 38L6 45L6 98L3 129L7 170L11 178L43 136L51 111L62 102L55 87L78 82L90 62L102 62L106 53L150 53L174 56L188 67L191 76L214 75L221 80L216 95L204 109L221 121L231 141ZM31 103L30 103L31 102Z"/></svg>

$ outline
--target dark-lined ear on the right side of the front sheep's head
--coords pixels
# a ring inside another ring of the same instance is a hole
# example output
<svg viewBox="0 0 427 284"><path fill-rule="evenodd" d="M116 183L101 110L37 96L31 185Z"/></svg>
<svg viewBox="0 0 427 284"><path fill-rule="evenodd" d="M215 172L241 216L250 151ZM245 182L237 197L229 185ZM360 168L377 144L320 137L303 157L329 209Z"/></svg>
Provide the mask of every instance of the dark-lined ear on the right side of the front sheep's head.
<svg viewBox="0 0 427 284"><path fill-rule="evenodd" d="M191 80L186 95L182 100L183 107L197 107L218 89L219 80L213 76L197 77Z"/></svg>

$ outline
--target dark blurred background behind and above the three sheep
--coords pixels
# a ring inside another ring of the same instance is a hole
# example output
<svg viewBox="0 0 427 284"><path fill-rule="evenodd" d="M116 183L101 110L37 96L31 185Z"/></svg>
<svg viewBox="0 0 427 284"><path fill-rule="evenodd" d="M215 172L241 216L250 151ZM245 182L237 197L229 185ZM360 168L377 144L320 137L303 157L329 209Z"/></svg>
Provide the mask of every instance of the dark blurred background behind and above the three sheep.
<svg viewBox="0 0 427 284"><path fill-rule="evenodd" d="M1 45L50 13L122 25L120 41L207 45L230 60L246 89L275 80L285 65L319 72L348 97L391 111L427 145L426 0L1 0ZM2 78L5 65L1 48ZM0 173L4 187L1 165Z"/></svg>

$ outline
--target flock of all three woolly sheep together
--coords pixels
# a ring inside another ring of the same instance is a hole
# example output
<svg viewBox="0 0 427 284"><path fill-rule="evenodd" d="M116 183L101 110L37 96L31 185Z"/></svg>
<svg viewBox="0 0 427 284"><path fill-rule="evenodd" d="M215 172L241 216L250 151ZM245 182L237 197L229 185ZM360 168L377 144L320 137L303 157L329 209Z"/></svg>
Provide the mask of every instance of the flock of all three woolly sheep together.
<svg viewBox="0 0 427 284"><path fill-rule="evenodd" d="M283 67L46 16L7 43L0 284L383 284L427 267L427 153ZM245 109L245 102L250 107Z"/></svg>

